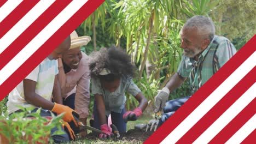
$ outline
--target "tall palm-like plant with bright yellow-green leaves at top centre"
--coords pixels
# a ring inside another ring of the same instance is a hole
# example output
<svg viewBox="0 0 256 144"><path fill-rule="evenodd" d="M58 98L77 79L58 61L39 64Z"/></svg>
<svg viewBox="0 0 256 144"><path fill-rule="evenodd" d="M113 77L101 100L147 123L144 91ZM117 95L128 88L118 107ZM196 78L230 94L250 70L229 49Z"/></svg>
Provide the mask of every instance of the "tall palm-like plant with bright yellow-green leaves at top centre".
<svg viewBox="0 0 256 144"><path fill-rule="evenodd" d="M167 0L126 0L116 4L119 9L118 17L124 22L112 24L112 32L117 33L123 27L126 37L126 50L131 53L132 62L139 63L139 77L142 77L146 62L156 61L159 37L166 37L169 21L177 17L180 1ZM154 34L154 38L152 37ZM155 47L153 46L155 43Z"/></svg>

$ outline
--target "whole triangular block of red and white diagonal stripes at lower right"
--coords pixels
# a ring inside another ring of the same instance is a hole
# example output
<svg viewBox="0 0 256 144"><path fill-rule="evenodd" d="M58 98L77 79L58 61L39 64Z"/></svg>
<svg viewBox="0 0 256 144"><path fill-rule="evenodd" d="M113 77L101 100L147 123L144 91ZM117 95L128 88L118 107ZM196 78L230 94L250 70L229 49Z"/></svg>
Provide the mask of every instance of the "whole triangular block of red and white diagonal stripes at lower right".
<svg viewBox="0 0 256 144"><path fill-rule="evenodd" d="M255 93L256 35L144 143L255 142Z"/></svg>

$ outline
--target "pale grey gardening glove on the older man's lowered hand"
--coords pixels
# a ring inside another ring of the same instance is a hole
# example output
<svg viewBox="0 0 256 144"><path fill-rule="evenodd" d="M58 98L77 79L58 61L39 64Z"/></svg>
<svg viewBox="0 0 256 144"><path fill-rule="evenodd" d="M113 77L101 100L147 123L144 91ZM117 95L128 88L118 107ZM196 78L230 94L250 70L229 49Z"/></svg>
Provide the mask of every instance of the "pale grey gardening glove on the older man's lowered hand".
<svg viewBox="0 0 256 144"><path fill-rule="evenodd" d="M164 109L165 103L168 100L170 91L167 87L162 88L161 91L158 92L158 95L155 97L155 112L161 111Z"/></svg>

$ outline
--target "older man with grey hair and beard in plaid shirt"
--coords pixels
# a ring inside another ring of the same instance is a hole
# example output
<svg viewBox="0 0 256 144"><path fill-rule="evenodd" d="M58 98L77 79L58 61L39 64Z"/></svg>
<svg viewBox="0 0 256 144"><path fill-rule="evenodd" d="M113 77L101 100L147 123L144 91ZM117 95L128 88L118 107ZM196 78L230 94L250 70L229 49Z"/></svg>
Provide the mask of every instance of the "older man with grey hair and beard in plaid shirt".
<svg viewBox="0 0 256 144"><path fill-rule="evenodd" d="M170 92L189 77L192 94L219 70L236 49L225 37L215 35L212 20L206 16L191 17L181 31L182 61L178 71L155 97L155 112L164 109L159 125L164 123L190 97L168 100Z"/></svg>

